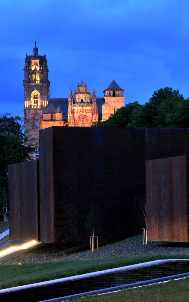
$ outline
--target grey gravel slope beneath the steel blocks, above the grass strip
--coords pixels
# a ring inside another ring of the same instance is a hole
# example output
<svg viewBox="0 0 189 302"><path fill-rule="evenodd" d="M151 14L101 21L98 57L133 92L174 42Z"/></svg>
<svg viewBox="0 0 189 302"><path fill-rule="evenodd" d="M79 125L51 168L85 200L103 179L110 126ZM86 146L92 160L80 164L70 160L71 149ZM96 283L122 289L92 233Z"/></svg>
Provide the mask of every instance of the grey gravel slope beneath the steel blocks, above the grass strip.
<svg viewBox="0 0 189 302"><path fill-rule="evenodd" d="M1 241L0 249L2 249ZM0 265L18 264L18 262L44 263L50 261L102 259L112 256L139 256L157 254L186 254L187 257L189 257L189 243L171 243L160 241L152 241L152 243L150 243L150 241L148 241L147 245L143 245L142 235L138 235L117 243L102 246L98 251L95 250L93 253L90 252L89 244L82 244L80 246L70 248L63 244L53 245L41 243L33 248L14 252L10 255L0 258Z"/></svg>

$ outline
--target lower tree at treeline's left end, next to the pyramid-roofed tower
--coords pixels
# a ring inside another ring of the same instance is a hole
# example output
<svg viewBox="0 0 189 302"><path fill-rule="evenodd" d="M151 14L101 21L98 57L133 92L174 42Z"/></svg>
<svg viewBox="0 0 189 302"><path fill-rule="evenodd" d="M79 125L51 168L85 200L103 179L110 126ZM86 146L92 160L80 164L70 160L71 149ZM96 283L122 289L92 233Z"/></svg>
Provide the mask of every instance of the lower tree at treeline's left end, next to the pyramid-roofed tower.
<svg viewBox="0 0 189 302"><path fill-rule="evenodd" d="M108 120L103 122L95 122L94 127L127 127L132 121L132 113L135 109L140 108L142 105L138 101L126 104L125 107L121 107L116 110L114 114L111 114Z"/></svg>

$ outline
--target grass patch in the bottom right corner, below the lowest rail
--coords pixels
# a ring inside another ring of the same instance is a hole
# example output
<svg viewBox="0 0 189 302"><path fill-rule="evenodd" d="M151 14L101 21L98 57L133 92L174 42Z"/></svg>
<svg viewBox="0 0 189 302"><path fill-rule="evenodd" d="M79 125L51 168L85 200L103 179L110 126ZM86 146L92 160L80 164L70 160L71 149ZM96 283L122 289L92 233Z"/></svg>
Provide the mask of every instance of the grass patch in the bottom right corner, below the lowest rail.
<svg viewBox="0 0 189 302"><path fill-rule="evenodd" d="M171 280L170 282L153 284L142 288L122 290L117 293L93 297L81 297L74 301L89 302L188 302L189 278Z"/></svg>

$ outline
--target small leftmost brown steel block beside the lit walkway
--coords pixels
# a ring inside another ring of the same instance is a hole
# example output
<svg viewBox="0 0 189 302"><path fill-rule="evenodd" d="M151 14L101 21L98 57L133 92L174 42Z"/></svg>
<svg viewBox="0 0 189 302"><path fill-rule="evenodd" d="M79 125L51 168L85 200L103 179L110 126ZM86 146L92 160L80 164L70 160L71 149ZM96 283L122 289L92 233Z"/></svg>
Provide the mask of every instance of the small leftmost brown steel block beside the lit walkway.
<svg viewBox="0 0 189 302"><path fill-rule="evenodd" d="M13 240L39 240L39 161L8 166L9 230Z"/></svg>

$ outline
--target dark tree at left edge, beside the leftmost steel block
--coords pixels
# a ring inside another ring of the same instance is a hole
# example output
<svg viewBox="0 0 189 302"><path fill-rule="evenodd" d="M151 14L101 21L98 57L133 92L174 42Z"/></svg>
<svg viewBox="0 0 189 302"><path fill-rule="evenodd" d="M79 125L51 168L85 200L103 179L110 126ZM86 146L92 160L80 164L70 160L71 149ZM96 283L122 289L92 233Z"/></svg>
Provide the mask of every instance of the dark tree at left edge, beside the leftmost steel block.
<svg viewBox="0 0 189 302"><path fill-rule="evenodd" d="M21 118L18 116L5 114L0 117L0 196L2 196L4 220L7 220L8 211L8 165L29 159L20 122Z"/></svg>

